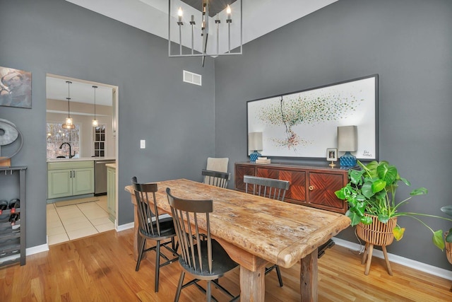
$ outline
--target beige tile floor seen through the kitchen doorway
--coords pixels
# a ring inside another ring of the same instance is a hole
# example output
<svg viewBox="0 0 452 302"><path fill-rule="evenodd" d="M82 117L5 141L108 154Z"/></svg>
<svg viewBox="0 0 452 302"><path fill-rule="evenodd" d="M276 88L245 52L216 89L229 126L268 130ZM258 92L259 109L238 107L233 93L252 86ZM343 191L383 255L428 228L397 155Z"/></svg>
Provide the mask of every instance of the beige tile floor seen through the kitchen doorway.
<svg viewBox="0 0 452 302"><path fill-rule="evenodd" d="M113 230L108 218L107 197L95 202L56 207L47 204L47 238L49 245Z"/></svg>

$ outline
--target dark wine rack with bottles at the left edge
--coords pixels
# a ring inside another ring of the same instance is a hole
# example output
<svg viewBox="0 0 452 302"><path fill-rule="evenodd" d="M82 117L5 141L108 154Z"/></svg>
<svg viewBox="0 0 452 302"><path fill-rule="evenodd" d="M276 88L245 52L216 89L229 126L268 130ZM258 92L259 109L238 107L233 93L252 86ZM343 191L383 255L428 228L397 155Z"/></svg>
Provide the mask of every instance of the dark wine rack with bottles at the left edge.
<svg viewBox="0 0 452 302"><path fill-rule="evenodd" d="M0 215L0 267L20 262L25 265L25 171L26 166L0 168L0 192L20 199L15 208L20 219L11 226L11 209L4 209ZM16 183L16 185L11 185ZM7 196L0 196L6 199ZM11 198L9 198L11 199ZM8 200L9 200L8 199Z"/></svg>

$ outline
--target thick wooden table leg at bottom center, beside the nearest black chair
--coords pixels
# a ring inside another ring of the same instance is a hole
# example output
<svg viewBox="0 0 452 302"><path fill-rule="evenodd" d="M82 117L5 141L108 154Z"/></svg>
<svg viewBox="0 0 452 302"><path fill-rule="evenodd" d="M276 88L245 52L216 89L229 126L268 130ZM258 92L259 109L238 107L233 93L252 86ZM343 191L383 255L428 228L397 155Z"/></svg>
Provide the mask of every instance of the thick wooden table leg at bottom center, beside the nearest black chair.
<svg viewBox="0 0 452 302"><path fill-rule="evenodd" d="M265 301L266 294L266 267L259 267L251 272L240 266L240 301Z"/></svg>

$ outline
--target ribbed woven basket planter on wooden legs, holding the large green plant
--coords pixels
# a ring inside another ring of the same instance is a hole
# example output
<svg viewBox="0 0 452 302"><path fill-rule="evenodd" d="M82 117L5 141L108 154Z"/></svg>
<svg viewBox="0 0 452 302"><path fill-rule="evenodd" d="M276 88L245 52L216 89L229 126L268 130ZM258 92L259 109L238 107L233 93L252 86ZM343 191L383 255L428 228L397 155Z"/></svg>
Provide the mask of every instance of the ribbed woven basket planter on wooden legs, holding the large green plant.
<svg viewBox="0 0 452 302"><path fill-rule="evenodd" d="M390 245L393 243L393 228L396 227L397 217L389 219L387 223L379 221L377 216L364 214L372 218L372 223L367 225L358 223L356 226L357 235L367 243L373 245Z"/></svg>

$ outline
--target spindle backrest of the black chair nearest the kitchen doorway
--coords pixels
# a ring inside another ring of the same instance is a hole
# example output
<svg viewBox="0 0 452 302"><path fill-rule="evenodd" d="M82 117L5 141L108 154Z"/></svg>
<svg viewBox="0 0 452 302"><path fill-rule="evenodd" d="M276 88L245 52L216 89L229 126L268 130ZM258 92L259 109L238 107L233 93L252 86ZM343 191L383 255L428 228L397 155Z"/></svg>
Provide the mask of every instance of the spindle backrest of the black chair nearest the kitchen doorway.
<svg viewBox="0 0 452 302"><path fill-rule="evenodd" d="M136 177L133 176L132 186L135 191L140 231L152 236L160 236L160 223L157 219L158 209L157 204L155 203L157 184L138 183Z"/></svg>

